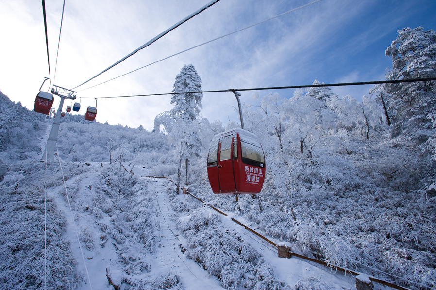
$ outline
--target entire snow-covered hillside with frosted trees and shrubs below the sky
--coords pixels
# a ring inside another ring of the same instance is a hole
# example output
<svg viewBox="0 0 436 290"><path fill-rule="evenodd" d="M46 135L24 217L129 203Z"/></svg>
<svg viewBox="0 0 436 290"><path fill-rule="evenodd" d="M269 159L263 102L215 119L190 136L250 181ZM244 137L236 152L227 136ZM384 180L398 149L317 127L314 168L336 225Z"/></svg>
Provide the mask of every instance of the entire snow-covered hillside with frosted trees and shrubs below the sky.
<svg viewBox="0 0 436 290"><path fill-rule="evenodd" d="M436 76L433 31L399 31L386 55L388 79ZM175 92L188 73L201 90L191 66ZM254 95L243 115L265 153L265 183L238 202L214 194L206 171L212 138L238 124L200 118L200 95L175 94L153 132L67 113L46 164L53 120L0 93L0 285L354 289L341 267L435 289L435 90L434 81L376 86L361 102L326 87ZM333 269L278 258L230 217Z"/></svg>

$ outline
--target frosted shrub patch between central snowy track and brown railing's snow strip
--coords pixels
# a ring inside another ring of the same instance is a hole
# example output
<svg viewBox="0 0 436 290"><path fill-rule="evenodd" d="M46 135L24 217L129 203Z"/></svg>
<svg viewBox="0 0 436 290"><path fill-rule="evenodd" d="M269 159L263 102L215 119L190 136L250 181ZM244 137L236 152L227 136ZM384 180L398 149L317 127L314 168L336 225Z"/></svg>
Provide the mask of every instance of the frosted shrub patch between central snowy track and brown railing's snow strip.
<svg viewBox="0 0 436 290"><path fill-rule="evenodd" d="M277 281L261 255L240 234L223 227L221 217L200 208L178 220L187 240L182 251L210 275L221 280L226 289L286 289Z"/></svg>

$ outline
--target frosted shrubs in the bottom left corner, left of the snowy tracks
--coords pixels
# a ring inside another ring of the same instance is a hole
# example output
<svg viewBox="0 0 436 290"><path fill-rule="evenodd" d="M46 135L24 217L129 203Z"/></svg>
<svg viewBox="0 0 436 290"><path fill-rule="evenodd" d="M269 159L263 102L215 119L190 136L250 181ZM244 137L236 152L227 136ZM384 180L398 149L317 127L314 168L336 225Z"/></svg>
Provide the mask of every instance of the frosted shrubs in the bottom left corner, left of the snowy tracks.
<svg viewBox="0 0 436 290"><path fill-rule="evenodd" d="M0 183L0 284L2 289L44 287L44 171L29 162L11 167ZM17 171L15 171L17 170ZM50 168L49 168L50 170ZM53 171L49 171L49 174ZM46 288L72 290L80 286L65 217L47 199Z"/></svg>

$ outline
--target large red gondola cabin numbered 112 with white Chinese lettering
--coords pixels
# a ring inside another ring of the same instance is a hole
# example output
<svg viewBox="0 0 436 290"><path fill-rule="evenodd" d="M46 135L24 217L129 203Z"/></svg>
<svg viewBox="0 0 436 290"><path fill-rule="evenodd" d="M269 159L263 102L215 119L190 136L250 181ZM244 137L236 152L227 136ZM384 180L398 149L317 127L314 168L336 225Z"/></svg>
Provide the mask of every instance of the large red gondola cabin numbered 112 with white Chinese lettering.
<svg viewBox="0 0 436 290"><path fill-rule="evenodd" d="M256 135L239 128L216 135L209 148L207 175L214 193L260 193L265 155Z"/></svg>

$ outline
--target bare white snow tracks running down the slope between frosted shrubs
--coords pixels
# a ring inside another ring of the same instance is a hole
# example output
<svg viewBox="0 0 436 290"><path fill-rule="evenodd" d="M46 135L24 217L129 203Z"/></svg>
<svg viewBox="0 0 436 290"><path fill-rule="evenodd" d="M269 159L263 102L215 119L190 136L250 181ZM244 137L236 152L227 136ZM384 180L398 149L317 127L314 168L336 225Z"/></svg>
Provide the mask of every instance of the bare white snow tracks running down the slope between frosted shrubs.
<svg viewBox="0 0 436 290"><path fill-rule="evenodd" d="M101 167L101 164L103 164L103 167ZM95 184L99 183L99 177L105 171L104 168L110 167L110 165L93 162L90 166L86 166L84 163L71 163L69 166L79 166L86 169L86 172L75 175L66 181L67 192L70 195L68 199L70 199L73 215L70 211L63 183L48 190L48 197L53 199L59 212L66 219L64 235L70 242L73 257L77 261L77 271L81 273L82 277L82 284L77 289L91 289L91 286L95 290L112 289L112 286L109 286L106 269L110 269L112 281L122 287L129 287L125 282L129 280L146 285L147 283L151 284L153 281L162 279L162 277L176 275L180 281L180 283L176 284L178 285L177 287L193 290L223 289L216 276L210 275L200 264L189 259L182 251L182 249L187 247L187 242L184 235L178 229L178 222L181 218L189 218L191 211L194 210L208 212L208 214L214 216L214 218L222 223L222 227L225 230L240 235L245 243L250 245L271 265L274 276L278 280L285 282L289 287L293 287L299 281L309 278L316 278L334 289L354 289L355 287L354 278L351 275L344 276L341 272L335 273L333 270L312 265L310 262L298 258L278 258L277 250L273 246L239 226L231 218L233 217L248 226L251 225L250 221L229 211L225 212L227 216L223 216L217 214L210 207L201 208L201 203L189 195L168 194L168 186L172 187L172 183L166 179L141 177L150 175L150 170L140 165L135 166L133 170L134 176L139 176L137 178L142 181L138 183L147 189L134 195L134 198L130 199L129 202L133 204L140 204L143 201L151 202L150 210L155 218L155 234L157 235L154 240L154 251L151 255L141 257L141 259L147 259L151 270L149 272L144 270L139 274L132 273L128 275L123 272L126 263L122 260L123 255L119 255L117 250L119 246L116 246L117 241L110 237L106 237L106 240L101 240L101 236L105 233L97 227L96 216L89 210L90 207L95 206L93 199L96 198L96 193L92 189L96 186ZM68 168L65 164L64 167ZM117 167L121 173L124 171L119 165ZM79 181L82 186L77 188ZM89 189L89 185L91 185L91 189ZM184 202L191 209L184 212L174 211L171 206L172 201ZM111 224L111 216L106 213L99 213L98 220L100 223ZM123 229L120 231L122 232ZM81 240L80 245L78 236ZM101 243L97 244L96 241ZM128 243L128 240L125 243ZM145 245L140 246L145 247ZM89 274L89 280L87 274Z"/></svg>

